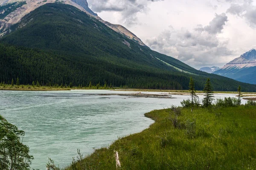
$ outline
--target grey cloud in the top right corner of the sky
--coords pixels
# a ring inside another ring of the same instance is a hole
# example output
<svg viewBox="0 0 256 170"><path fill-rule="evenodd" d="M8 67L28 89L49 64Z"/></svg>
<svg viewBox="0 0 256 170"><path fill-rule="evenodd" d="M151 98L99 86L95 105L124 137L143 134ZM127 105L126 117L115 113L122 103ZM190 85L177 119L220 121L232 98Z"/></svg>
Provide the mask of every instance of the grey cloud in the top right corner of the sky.
<svg viewBox="0 0 256 170"><path fill-rule="evenodd" d="M251 28L256 28L256 6L252 0L245 0L243 4L232 3L227 13L245 18Z"/></svg>

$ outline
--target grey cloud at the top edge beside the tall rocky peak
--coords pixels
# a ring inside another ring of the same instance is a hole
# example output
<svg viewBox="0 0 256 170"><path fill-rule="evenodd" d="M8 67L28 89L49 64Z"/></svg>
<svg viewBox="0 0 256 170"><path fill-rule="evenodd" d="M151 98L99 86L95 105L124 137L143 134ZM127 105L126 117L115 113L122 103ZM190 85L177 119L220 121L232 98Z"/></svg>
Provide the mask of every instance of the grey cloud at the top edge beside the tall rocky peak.
<svg viewBox="0 0 256 170"><path fill-rule="evenodd" d="M88 0L94 12L116 11L120 12L121 20L126 25L137 23L137 13L144 12L148 4L162 0Z"/></svg>

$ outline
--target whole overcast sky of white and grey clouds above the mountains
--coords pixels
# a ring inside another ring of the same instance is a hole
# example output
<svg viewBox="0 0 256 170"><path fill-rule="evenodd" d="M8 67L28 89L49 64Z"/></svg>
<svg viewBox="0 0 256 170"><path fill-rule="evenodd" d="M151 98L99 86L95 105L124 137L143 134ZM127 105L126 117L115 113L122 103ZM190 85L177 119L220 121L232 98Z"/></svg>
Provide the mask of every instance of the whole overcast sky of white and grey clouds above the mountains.
<svg viewBox="0 0 256 170"><path fill-rule="evenodd" d="M222 67L256 48L256 0L87 0L151 49L194 68Z"/></svg>

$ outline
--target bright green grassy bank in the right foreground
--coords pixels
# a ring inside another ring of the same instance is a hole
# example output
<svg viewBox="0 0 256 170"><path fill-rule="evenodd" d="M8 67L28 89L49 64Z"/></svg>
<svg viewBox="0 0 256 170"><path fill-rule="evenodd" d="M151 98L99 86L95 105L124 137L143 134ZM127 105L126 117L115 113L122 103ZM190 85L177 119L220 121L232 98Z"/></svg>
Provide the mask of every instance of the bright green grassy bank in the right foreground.
<svg viewBox="0 0 256 170"><path fill-rule="evenodd" d="M141 133L95 150L65 170L256 169L256 107L151 111L155 123ZM175 121L176 120L176 121ZM174 123L176 122L176 123ZM176 127L175 127L176 126Z"/></svg>

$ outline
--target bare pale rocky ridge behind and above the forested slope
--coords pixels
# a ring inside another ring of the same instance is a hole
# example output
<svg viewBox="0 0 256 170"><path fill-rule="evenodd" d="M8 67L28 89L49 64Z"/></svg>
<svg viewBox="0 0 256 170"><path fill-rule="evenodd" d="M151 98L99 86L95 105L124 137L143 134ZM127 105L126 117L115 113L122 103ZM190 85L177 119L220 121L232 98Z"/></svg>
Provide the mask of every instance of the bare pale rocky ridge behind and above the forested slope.
<svg viewBox="0 0 256 170"><path fill-rule="evenodd" d="M35 8L45 5L46 3L55 2L75 6L76 8L84 11L91 17L94 17L97 20L101 21L114 31L123 34L124 36L130 38L131 40L134 40L140 45L146 46L140 40L140 38L138 38L135 34L133 34L125 27L108 23L107 21L104 21L100 17L98 17L97 14L88 7L87 0L4 0L3 2L0 2L0 37L7 32L12 31L9 30L9 26L18 23L22 17L24 17L29 12L34 11ZM6 9L10 8L11 10L6 11Z"/></svg>

